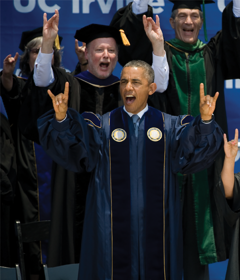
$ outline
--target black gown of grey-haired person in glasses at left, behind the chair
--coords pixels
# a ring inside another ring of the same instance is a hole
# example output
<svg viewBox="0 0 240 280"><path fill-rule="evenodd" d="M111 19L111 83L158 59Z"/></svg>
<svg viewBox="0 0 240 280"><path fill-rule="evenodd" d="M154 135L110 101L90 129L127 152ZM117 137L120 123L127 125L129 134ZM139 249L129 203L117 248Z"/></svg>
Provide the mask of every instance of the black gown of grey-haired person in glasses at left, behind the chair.
<svg viewBox="0 0 240 280"><path fill-rule="evenodd" d="M2 72L1 72L2 73ZM13 85L10 91L6 91L0 82L0 94L5 105L6 114L10 123L10 130L12 138L15 142L16 164L17 164L17 182L15 190L14 205L12 208L12 223L14 220L19 219L20 222L32 222L40 219L40 202L42 201L39 196L41 191L44 192L46 187L41 188L41 177L38 177L40 170L37 170L39 161L38 155L44 154L48 157L43 150L36 151L36 148L41 147L31 139L24 137L18 127L18 116L22 104L22 92L27 82L26 78L17 77L12 75ZM37 161L37 160L38 161ZM41 158L42 159L42 158ZM51 159L48 157L47 162ZM43 184L46 184L45 182ZM44 200L44 199L43 199ZM45 203L45 201L43 201ZM44 206L46 206L44 204ZM49 205L47 205L49 209ZM42 214L42 213L41 213ZM27 252L27 259L25 261L26 270L30 269L31 274L38 274L41 265L42 252L46 252L46 247L43 242L32 242L31 244L24 244L24 251ZM13 264L16 262L15 260Z"/></svg>

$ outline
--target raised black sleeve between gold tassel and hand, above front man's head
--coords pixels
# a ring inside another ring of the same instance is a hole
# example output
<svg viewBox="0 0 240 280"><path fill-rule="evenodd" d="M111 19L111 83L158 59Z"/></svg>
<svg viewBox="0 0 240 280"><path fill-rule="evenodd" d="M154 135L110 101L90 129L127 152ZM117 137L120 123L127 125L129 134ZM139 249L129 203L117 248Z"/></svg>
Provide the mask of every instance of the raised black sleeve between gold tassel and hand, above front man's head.
<svg viewBox="0 0 240 280"><path fill-rule="evenodd" d="M147 12L135 14L132 12L131 5L132 2L118 9L110 22L110 25L118 30L123 29L130 42L130 46L119 46L118 62L124 66L131 60L141 59L151 65L152 45L143 28L142 15L152 17L152 7L148 5Z"/></svg>

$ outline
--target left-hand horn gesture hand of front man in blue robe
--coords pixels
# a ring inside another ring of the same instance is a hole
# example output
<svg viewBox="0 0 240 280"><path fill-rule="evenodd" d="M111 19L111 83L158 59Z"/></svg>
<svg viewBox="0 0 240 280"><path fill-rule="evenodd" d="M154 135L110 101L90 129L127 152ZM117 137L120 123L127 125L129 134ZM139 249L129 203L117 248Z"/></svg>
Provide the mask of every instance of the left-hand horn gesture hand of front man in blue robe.
<svg viewBox="0 0 240 280"><path fill-rule="evenodd" d="M53 108L55 110L55 118L60 121L65 118L67 111L67 101L68 101L68 91L69 83L65 83L64 93L59 93L56 96L52 94L50 89L47 90L47 93L51 97Z"/></svg>

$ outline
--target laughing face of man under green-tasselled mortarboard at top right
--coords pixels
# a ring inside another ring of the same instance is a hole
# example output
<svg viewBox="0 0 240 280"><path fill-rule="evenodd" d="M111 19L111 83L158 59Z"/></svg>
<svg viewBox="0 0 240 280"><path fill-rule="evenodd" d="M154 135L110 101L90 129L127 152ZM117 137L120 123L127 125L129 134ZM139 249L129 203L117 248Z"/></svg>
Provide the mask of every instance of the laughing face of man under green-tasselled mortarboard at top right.
<svg viewBox="0 0 240 280"><path fill-rule="evenodd" d="M175 18L170 18L169 21L177 39L191 44L197 41L203 23L198 9L179 8Z"/></svg>

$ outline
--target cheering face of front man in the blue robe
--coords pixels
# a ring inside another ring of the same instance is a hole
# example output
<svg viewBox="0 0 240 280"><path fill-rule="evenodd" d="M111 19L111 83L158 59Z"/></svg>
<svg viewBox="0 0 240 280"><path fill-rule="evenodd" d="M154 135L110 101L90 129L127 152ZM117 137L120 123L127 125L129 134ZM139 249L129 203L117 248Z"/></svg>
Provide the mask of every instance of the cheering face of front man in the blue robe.
<svg viewBox="0 0 240 280"><path fill-rule="evenodd" d="M121 73L120 93L128 112L138 113L146 106L147 97L156 89L155 83L150 83L144 77L143 68L125 67Z"/></svg>

